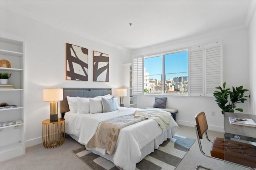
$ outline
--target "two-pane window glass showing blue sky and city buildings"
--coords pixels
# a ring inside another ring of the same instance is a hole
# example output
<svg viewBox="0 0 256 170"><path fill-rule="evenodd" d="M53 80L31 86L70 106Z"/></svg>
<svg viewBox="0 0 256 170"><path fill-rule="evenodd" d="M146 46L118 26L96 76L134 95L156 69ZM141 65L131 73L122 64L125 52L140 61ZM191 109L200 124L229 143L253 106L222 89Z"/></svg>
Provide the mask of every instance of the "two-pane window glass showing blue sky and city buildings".
<svg viewBox="0 0 256 170"><path fill-rule="evenodd" d="M188 93L188 49L144 57L144 93Z"/></svg>

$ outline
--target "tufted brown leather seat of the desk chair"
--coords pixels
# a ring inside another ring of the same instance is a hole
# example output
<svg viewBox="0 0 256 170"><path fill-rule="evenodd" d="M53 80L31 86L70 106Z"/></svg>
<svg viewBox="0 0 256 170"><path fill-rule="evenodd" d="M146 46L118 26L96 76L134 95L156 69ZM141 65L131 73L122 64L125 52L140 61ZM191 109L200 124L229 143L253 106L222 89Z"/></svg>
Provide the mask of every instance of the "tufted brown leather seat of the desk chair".
<svg viewBox="0 0 256 170"><path fill-rule="evenodd" d="M252 144L215 138L212 143L211 156L256 168L256 146Z"/></svg>

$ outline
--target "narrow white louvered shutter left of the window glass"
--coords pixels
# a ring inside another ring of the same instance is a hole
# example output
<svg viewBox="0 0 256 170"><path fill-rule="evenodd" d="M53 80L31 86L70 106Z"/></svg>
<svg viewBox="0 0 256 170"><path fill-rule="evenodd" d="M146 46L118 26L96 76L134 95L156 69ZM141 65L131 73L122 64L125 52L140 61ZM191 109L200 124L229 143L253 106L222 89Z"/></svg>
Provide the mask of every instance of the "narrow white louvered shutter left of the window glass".
<svg viewBox="0 0 256 170"><path fill-rule="evenodd" d="M133 58L132 61L132 94L142 95L144 77L143 57Z"/></svg>

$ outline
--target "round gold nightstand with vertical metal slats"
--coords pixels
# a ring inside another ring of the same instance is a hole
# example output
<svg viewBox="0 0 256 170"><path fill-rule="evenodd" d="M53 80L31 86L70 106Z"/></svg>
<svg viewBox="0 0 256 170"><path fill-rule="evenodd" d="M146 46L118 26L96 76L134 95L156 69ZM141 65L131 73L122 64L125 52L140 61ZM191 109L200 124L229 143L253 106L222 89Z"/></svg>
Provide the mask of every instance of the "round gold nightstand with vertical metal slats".
<svg viewBox="0 0 256 170"><path fill-rule="evenodd" d="M58 118L58 121L46 119L43 124L43 145L46 148L60 146L65 141L65 119Z"/></svg>

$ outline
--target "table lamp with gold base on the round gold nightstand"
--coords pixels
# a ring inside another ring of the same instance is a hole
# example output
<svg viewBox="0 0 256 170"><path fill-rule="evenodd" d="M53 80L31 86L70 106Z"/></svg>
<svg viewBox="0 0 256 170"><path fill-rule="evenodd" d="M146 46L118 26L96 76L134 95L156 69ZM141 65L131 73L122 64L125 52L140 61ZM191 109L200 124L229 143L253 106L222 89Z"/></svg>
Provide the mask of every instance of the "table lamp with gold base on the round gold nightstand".
<svg viewBox="0 0 256 170"><path fill-rule="evenodd" d="M50 121L58 121L58 102L63 100L63 89L43 89L43 101L50 101Z"/></svg>

